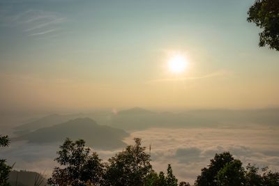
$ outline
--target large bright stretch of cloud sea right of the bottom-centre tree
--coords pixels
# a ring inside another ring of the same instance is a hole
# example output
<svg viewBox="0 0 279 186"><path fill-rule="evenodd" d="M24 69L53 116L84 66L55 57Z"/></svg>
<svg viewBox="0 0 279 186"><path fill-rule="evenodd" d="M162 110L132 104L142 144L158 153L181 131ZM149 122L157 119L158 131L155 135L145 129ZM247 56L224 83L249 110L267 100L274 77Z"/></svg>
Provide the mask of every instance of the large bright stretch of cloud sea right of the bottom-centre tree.
<svg viewBox="0 0 279 186"><path fill-rule="evenodd" d="M244 166L252 163L279 171L278 134L277 129L271 128L153 128L133 132L126 142L133 137L142 138L144 146L151 144L154 169L165 171L167 164L172 164L179 180L193 183L209 160L224 151L240 159Z"/></svg>

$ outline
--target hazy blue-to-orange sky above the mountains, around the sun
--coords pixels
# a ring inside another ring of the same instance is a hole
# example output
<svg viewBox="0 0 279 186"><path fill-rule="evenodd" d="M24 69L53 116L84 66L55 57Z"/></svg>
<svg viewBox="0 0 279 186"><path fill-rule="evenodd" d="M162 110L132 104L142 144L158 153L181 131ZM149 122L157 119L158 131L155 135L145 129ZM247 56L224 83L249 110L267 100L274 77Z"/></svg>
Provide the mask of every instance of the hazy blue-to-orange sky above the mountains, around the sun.
<svg viewBox="0 0 279 186"><path fill-rule="evenodd" d="M0 110L278 106L253 2L1 0Z"/></svg>

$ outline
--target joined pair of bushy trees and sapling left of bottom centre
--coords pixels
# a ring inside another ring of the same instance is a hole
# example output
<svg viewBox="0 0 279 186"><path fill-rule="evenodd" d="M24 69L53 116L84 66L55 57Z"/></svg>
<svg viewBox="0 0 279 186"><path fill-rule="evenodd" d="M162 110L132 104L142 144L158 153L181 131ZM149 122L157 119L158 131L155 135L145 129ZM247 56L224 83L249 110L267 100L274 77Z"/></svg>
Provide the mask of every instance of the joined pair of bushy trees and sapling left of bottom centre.
<svg viewBox="0 0 279 186"><path fill-rule="evenodd" d="M96 152L85 146L85 141L66 139L55 160L63 168L55 167L51 185L177 185L178 180L168 165L167 175L153 171L150 156L136 138L134 146L111 157L108 162L101 162Z"/></svg>

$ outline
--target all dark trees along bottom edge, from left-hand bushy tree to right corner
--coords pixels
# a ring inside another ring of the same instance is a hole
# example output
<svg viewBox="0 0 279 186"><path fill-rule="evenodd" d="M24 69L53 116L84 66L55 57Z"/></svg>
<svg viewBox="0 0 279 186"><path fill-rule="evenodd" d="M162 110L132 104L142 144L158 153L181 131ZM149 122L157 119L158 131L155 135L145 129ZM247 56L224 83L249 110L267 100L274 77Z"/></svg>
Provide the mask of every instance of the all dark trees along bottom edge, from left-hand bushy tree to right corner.
<svg viewBox="0 0 279 186"><path fill-rule="evenodd" d="M172 172L172 166L167 166L167 175L156 173L152 169L149 154L145 153L141 140L135 139L134 146L127 146L125 150L111 157L103 163L96 152L86 148L85 141L71 141L66 139L55 160L63 168L55 167L51 185L156 185L176 186L190 185L186 182L178 183ZM248 164L243 168L240 160L234 159L229 152L216 154L208 167L202 169L195 181L197 186L277 186L279 173L259 171L256 166Z"/></svg>

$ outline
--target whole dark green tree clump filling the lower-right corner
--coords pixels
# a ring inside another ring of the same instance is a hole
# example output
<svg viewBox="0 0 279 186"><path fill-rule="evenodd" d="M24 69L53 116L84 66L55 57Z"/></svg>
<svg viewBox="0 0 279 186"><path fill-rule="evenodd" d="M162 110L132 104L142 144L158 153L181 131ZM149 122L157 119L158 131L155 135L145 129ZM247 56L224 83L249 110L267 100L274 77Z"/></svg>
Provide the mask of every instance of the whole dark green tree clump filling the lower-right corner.
<svg viewBox="0 0 279 186"><path fill-rule="evenodd" d="M264 168L259 171L255 165L243 168L240 160L234 159L229 152L216 154L208 167L197 176L197 186L278 186L279 173Z"/></svg>

